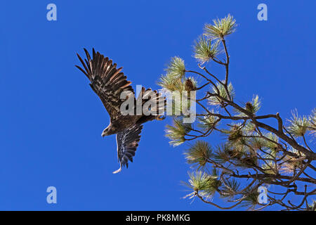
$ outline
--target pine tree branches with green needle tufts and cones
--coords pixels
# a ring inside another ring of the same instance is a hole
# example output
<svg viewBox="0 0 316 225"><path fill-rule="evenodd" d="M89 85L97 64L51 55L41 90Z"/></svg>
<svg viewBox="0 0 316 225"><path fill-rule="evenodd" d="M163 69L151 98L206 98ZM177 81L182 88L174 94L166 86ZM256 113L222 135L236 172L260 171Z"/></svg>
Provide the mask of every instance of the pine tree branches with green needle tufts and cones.
<svg viewBox="0 0 316 225"><path fill-rule="evenodd" d="M174 57L166 75L160 78L159 85L165 90L196 90L203 94L202 98L195 99L201 110L196 122L185 124L181 115L175 116L173 125L166 127L166 136L173 146L185 142L189 145L185 158L193 171L189 172L185 185L192 192L185 198L199 198L227 210L233 207L272 210L272 205L279 205L284 210L315 211L312 197L316 195L316 153L306 139L316 134L316 110L309 116L294 111L284 122L279 113L260 115L258 96L244 104L235 101L235 90L229 82L226 37L236 27L232 15L204 25L204 34L195 41L193 50L200 71L188 70L182 58ZM221 55L225 56L224 60L220 59ZM209 63L223 66L225 78L213 75L206 68ZM198 79L205 83L198 86ZM272 126L267 120L275 120L277 125ZM218 146L209 143L215 132L225 137ZM266 204L258 201L260 186L268 187ZM213 203L214 195L223 198L225 207Z"/></svg>

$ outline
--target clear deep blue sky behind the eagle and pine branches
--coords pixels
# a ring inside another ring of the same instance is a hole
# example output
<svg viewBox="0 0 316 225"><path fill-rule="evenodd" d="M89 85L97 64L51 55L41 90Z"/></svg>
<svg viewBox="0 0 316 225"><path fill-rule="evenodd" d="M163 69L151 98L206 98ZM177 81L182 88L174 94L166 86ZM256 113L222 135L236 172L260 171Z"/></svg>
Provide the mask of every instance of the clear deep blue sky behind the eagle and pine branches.
<svg viewBox="0 0 316 225"><path fill-rule="evenodd" d="M46 20L57 5L58 20ZM258 21L258 4L268 21ZM187 194L185 146L164 137L170 120L145 124L129 169L112 174L109 117L77 68L86 47L110 56L133 85L153 89L171 56L197 69L193 41L231 13L228 39L237 101L290 117L315 107L316 1L6 1L0 13L0 210L216 210ZM223 70L214 69L215 72ZM209 137L209 141L212 137ZM46 203L55 186L58 203ZM221 203L217 198L216 203Z"/></svg>

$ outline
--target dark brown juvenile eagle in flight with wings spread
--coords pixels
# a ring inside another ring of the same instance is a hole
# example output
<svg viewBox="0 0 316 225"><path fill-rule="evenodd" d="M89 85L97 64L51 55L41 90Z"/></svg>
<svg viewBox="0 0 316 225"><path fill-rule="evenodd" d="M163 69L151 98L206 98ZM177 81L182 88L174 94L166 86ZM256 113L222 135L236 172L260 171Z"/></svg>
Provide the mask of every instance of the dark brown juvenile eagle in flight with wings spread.
<svg viewBox="0 0 316 225"><path fill-rule="evenodd" d="M88 77L91 88L100 97L107 113L110 115L110 124L104 129L102 136L117 134L117 158L120 167L113 172L115 174L121 172L122 167L129 167L129 160L133 162L133 156L135 156L140 141L140 132L143 129L142 124L150 120L164 120L159 112L162 109L164 110L166 99L161 94L157 94L157 91L145 90L145 88L142 88L136 99L130 85L131 82L127 81L126 76L121 72L122 68L117 68L116 63L113 64L112 60L105 58L94 49L92 58L86 49L84 51L86 52L85 60L82 60L77 54L83 68L78 65L76 67ZM127 93L125 99L121 99L123 91ZM121 104L129 98L133 98L135 103L134 108L129 108L133 113L123 115L120 110ZM136 114L136 103L139 103L139 101L142 106L145 103L148 105L149 101L157 103L157 107L150 108L154 113L150 115Z"/></svg>

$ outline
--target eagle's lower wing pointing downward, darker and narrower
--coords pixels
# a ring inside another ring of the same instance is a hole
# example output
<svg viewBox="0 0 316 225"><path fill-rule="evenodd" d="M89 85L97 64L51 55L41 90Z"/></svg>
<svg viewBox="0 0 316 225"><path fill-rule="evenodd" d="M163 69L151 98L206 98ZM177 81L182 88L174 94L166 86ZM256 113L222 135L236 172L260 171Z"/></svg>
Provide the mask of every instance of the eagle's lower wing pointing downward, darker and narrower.
<svg viewBox="0 0 316 225"><path fill-rule="evenodd" d="M140 141L140 132L143 125L136 124L129 127L124 131L117 133L117 158L119 158L119 169L114 171L113 174L121 172L121 167L129 167L129 160L133 162L138 142Z"/></svg>

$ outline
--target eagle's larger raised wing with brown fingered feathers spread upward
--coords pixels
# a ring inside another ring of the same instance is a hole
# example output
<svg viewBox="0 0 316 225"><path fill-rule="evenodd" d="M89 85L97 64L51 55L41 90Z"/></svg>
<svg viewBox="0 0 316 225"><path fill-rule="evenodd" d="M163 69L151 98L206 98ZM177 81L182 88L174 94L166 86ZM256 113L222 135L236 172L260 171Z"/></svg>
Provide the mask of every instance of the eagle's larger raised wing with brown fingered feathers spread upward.
<svg viewBox="0 0 316 225"><path fill-rule="evenodd" d="M120 116L120 106L124 100L119 97L122 91L131 91L134 94L133 88L130 86L131 82L126 80L126 76L121 72L122 68L116 68L117 64L112 64L112 60L105 58L99 52L96 53L93 49L93 58L91 59L88 51L86 52L86 59L77 54L81 61L83 68L76 65L81 72L90 80L91 88L98 94L107 113L110 115L111 121L117 120Z"/></svg>

